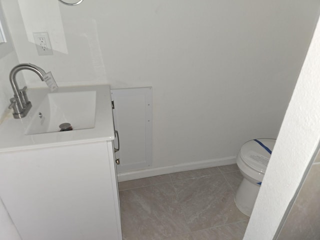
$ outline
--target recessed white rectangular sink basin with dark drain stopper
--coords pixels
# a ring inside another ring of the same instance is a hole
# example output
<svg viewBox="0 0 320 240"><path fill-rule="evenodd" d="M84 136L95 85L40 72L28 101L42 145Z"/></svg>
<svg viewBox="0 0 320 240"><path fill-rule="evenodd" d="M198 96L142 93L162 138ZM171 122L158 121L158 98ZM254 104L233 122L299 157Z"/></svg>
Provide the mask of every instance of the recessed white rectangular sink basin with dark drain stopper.
<svg viewBox="0 0 320 240"><path fill-rule="evenodd" d="M96 91L48 93L34 111L24 134L57 132L64 122L73 130L94 127Z"/></svg>

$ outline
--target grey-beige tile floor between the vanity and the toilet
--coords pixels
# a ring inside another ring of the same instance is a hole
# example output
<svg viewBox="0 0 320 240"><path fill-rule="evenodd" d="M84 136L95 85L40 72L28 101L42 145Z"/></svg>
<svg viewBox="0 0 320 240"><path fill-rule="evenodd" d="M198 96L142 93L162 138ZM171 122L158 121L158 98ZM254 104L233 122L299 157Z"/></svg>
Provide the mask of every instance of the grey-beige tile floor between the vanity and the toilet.
<svg viewBox="0 0 320 240"><path fill-rule="evenodd" d="M119 182L123 240L242 239L241 180L232 164Z"/></svg>

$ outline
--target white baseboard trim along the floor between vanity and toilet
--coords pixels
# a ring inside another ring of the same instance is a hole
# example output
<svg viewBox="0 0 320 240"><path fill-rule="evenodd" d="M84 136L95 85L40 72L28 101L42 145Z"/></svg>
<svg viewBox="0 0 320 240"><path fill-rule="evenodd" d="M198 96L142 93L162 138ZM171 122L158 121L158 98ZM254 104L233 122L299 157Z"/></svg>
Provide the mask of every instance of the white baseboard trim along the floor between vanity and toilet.
<svg viewBox="0 0 320 240"><path fill-rule="evenodd" d="M233 163L235 163L235 156L228 156L228 157L215 158L215 159L209 159L209 160L186 162L186 163L170 165L170 166L162 166L162 167L139 169L139 170L128 171L128 172L121 172L117 174L117 177L118 177L118 181L127 181L127 180L143 178L143 177L168 174L172 172L195 170L195 169L212 167L212 166L223 166L223 165L229 165Z"/></svg>

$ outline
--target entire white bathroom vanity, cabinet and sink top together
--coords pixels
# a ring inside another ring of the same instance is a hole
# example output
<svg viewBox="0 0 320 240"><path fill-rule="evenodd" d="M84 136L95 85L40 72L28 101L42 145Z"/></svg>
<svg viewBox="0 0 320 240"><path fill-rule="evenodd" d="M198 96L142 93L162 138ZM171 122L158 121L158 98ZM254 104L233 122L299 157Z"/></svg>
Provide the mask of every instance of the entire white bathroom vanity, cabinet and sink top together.
<svg viewBox="0 0 320 240"><path fill-rule="evenodd" d="M81 106L74 92L81 98L93 92L95 101ZM60 112L64 104L43 103L46 88L27 91L27 116L9 115L0 124L0 198L22 240L122 239L109 86L60 87L54 93L70 95L73 130L50 126L67 114ZM93 125L80 111L93 114Z"/></svg>

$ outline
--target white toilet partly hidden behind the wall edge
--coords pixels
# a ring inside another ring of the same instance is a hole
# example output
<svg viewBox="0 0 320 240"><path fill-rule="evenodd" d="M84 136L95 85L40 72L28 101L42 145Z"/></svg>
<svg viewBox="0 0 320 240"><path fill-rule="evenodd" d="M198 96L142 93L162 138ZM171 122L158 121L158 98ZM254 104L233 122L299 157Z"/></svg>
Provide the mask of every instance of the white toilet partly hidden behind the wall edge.
<svg viewBox="0 0 320 240"><path fill-rule="evenodd" d="M236 157L243 180L235 193L234 202L247 216L251 215L274 144L275 139L269 138L247 141Z"/></svg>

